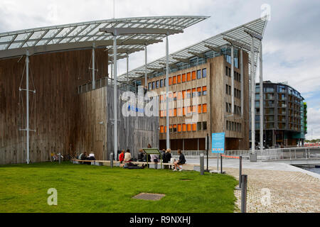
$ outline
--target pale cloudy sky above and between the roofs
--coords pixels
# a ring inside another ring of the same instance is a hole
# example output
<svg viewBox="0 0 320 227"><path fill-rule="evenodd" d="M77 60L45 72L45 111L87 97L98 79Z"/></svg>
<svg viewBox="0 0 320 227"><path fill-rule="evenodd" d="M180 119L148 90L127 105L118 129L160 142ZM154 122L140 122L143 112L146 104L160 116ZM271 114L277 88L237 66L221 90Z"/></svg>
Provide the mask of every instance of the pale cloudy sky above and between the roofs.
<svg viewBox="0 0 320 227"><path fill-rule="evenodd" d="M210 16L170 36L169 52L175 52L259 18L266 10L270 21L263 40L264 80L288 82L302 94L308 105L306 138L320 138L319 0L1 0L0 33L109 18ZM148 47L148 62L164 55L165 42ZM129 58L129 70L144 65L144 52ZM119 74L125 65L119 60Z"/></svg>

